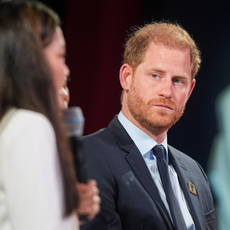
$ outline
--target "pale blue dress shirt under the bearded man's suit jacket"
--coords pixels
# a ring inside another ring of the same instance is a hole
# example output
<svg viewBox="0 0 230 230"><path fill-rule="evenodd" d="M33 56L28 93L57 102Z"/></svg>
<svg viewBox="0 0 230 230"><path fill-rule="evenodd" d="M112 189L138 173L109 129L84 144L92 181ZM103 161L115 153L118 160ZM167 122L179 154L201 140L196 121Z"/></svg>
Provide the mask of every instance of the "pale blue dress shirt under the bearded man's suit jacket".
<svg viewBox="0 0 230 230"><path fill-rule="evenodd" d="M137 148L139 149L141 155L143 156L145 163L149 169L149 172L153 178L153 181L158 189L159 195L165 205L165 208L172 220L172 216L169 210L169 206L166 200L165 192L162 186L160 174L158 172L158 167L157 167L157 159L153 155L152 149L154 148L155 145L158 143L152 139L150 136L148 136L145 132L140 130L137 126L135 126L132 122L130 122L122 112L119 113L118 115L118 120L120 123L123 125ZM163 140L162 143L160 143L164 146L165 152L166 152L166 162L168 163L168 145L167 145L167 136ZM185 224L187 226L188 230L195 230L195 225L193 222L193 219L191 217L191 214L189 213L188 206L186 203L186 200L184 198L184 193L180 187L177 173L174 170L173 166L171 164L168 165L168 170L169 170L169 176L172 184L172 188L174 191L174 194L176 196L176 199L178 201L179 207L182 212L182 216L185 220ZM173 220L172 220L173 222Z"/></svg>

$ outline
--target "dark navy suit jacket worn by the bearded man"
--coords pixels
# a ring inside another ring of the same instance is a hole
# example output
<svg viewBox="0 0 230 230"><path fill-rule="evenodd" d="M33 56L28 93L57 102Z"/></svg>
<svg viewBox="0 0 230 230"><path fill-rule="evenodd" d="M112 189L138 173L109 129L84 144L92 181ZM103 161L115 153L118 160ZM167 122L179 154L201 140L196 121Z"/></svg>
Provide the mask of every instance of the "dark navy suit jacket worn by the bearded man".
<svg viewBox="0 0 230 230"><path fill-rule="evenodd" d="M157 187L136 145L115 117L108 128L83 138L89 176L100 190L101 211L81 230L173 230ZM169 146L196 230L215 229L215 209L201 166ZM195 185L197 195L189 191Z"/></svg>

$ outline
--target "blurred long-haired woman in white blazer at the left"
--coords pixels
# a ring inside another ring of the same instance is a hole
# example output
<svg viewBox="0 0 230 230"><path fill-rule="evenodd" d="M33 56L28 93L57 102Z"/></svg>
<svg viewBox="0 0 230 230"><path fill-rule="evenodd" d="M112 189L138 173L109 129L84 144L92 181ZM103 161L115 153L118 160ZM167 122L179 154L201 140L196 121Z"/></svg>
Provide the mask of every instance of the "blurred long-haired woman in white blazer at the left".
<svg viewBox="0 0 230 230"><path fill-rule="evenodd" d="M38 2L0 5L1 230L78 229L80 198L57 112L69 75L59 24Z"/></svg>

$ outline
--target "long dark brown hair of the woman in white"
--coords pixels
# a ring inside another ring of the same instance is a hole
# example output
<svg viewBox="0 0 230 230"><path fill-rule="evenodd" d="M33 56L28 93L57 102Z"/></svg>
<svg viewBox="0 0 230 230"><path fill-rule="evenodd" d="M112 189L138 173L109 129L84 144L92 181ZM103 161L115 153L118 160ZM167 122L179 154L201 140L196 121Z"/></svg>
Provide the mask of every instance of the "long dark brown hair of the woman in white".
<svg viewBox="0 0 230 230"><path fill-rule="evenodd" d="M53 78L43 52L59 25L57 14L39 2L0 4L0 120L10 107L16 107L42 113L51 122L68 216L77 208L79 196Z"/></svg>

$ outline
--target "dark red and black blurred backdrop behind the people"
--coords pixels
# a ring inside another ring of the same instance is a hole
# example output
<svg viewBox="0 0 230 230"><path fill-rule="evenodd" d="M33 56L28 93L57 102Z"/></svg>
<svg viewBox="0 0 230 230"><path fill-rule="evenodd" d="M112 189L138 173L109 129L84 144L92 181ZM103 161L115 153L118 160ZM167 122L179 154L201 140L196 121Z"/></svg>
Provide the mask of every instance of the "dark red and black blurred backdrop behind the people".
<svg viewBox="0 0 230 230"><path fill-rule="evenodd" d="M123 45L133 26L154 20L178 22L202 54L197 84L168 142L204 169L218 132L215 99L230 83L228 1L43 0L62 19L71 70L70 106L85 116L84 134L106 127L120 111L119 69Z"/></svg>

